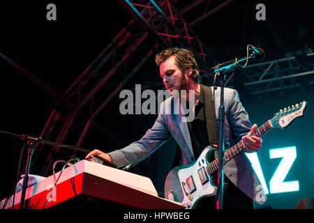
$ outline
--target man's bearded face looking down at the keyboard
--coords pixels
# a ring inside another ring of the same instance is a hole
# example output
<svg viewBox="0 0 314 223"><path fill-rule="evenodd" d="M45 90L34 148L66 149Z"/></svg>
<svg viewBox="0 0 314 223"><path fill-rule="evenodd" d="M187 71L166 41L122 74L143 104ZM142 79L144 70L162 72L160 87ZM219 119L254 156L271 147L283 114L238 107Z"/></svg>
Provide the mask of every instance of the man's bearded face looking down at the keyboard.
<svg viewBox="0 0 314 223"><path fill-rule="evenodd" d="M174 90L180 92L187 89L187 77L177 66L174 56L160 63L159 72L163 84L170 93Z"/></svg>

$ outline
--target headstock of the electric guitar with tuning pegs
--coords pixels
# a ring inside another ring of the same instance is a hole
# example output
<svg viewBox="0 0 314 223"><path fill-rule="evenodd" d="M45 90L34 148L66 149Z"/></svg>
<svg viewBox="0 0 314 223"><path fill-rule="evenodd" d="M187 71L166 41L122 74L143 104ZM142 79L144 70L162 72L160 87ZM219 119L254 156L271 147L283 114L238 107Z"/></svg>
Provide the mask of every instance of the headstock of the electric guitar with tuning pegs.
<svg viewBox="0 0 314 223"><path fill-rule="evenodd" d="M271 118L271 125L273 125L273 127L286 128L295 118L303 117L307 107L308 103L303 101L291 107L281 109L275 114L274 118Z"/></svg>

